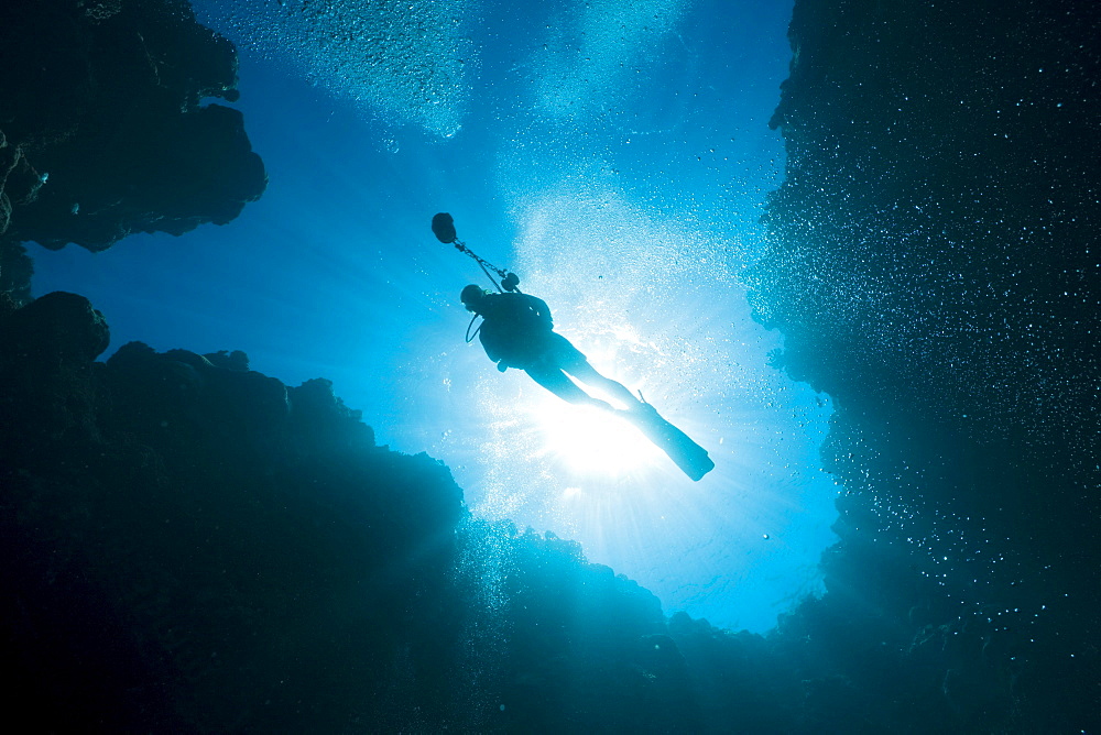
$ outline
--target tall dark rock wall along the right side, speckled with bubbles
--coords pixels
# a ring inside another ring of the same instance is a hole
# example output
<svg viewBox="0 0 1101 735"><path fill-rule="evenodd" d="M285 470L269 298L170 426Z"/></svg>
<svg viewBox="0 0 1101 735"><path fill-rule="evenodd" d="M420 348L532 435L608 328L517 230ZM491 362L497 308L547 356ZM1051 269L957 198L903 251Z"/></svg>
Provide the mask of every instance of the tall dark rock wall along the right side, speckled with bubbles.
<svg viewBox="0 0 1101 735"><path fill-rule="evenodd" d="M1094 11L795 6L753 301L836 399L846 495L829 594L789 626L864 651L827 644L815 679L876 728L915 698L933 728L1097 724Z"/></svg>

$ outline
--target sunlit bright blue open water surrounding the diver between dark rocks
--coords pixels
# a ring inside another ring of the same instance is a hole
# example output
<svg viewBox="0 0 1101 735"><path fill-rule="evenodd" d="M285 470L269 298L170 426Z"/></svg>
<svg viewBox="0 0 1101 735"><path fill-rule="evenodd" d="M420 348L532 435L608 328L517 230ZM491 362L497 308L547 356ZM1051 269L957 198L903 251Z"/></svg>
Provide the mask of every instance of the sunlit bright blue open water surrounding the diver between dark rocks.
<svg viewBox="0 0 1101 735"><path fill-rule="evenodd" d="M477 515L579 540L667 612L765 630L819 589L829 397L768 366L782 338L741 281L783 175L766 123L789 2L196 8L238 44L266 194L182 238L35 248L35 295L87 295L112 350L239 349L290 384L333 380L381 442L446 462ZM436 211L716 470L693 483L465 344L458 292L489 284L432 237Z"/></svg>

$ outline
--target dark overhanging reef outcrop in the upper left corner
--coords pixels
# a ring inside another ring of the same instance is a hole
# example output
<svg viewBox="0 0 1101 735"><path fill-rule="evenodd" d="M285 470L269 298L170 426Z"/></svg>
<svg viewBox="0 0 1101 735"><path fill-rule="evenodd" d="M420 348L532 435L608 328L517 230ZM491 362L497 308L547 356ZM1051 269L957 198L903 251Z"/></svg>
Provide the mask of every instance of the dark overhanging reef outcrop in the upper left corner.
<svg viewBox="0 0 1101 735"><path fill-rule="evenodd" d="M224 224L266 174L235 101L237 52L185 0L12 0L0 12L0 290L20 243L105 250Z"/></svg>

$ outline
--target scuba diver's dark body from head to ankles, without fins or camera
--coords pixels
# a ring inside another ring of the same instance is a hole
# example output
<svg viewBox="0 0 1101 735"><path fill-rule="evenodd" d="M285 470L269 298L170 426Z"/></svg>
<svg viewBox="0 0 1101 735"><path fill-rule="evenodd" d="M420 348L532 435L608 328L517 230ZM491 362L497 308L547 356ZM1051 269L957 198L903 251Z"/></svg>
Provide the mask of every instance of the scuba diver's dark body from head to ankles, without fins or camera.
<svg viewBox="0 0 1101 735"><path fill-rule="evenodd" d="M542 298L515 292L494 294L476 284L464 288L460 298L468 311L483 319L478 339L502 373L509 368L523 370L533 381L571 404L621 410L586 393L569 375L604 391L628 410L647 405L622 383L597 372L580 350L554 331L550 308Z"/></svg>

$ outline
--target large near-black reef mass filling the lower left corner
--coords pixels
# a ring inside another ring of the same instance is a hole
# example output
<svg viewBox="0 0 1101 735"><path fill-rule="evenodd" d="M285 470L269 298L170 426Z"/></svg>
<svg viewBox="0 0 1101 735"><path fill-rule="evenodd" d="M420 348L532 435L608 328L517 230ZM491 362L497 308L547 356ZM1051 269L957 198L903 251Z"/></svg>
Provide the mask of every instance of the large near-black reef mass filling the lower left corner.
<svg viewBox="0 0 1101 735"><path fill-rule="evenodd" d="M239 352L94 363L80 296L0 332L4 659L15 702L64 704L43 729L330 732L331 702L411 684L399 659L424 684L462 513L446 469Z"/></svg>

